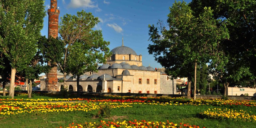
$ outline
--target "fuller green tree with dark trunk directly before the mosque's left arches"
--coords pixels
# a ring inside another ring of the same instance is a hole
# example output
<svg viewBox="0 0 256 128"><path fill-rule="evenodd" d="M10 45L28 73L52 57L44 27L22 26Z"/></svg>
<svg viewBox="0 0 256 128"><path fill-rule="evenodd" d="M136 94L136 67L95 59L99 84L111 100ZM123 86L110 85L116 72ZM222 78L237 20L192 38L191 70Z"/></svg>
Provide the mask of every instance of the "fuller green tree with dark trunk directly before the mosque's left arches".
<svg viewBox="0 0 256 128"><path fill-rule="evenodd" d="M80 97L79 78L88 71L96 71L98 63L105 63L109 57L109 42L102 38L101 31L93 31L87 42L75 42L70 47L67 58L67 70L77 77L77 97ZM90 41L89 41L90 40ZM104 52L104 55L102 53Z"/></svg>

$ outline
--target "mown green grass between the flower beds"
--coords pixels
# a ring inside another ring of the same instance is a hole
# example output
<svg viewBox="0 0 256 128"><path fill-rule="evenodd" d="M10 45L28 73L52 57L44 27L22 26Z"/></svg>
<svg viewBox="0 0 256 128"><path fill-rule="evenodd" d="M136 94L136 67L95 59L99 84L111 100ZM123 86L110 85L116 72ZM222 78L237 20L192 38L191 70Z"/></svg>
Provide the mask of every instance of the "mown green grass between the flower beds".
<svg viewBox="0 0 256 128"><path fill-rule="evenodd" d="M255 127L256 122L243 122L243 121L232 121L232 120L216 120L209 118L200 118L198 113L207 110L208 108L221 108L221 109L235 109L235 110L246 110L255 114L255 107L247 106L161 106L161 105L144 105L134 104L133 107L127 108L116 108L112 109L111 116L125 116L125 118L118 120L146 120L146 121L166 121L169 120L173 123L189 123L190 125L198 125L201 128L248 128ZM84 112L59 112L58 114L48 113L46 115L32 115L32 116L19 116L9 117L0 119L0 127L59 127L68 126L68 124L84 123L84 122L97 122L100 120L112 121L112 119L92 118L96 115L98 110Z"/></svg>

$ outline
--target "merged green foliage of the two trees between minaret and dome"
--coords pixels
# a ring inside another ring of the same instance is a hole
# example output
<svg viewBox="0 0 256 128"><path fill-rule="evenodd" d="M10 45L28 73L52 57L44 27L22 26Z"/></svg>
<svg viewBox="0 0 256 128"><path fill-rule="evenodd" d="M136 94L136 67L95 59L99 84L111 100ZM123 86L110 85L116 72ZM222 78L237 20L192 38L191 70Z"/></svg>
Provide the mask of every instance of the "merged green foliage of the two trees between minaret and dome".
<svg viewBox="0 0 256 128"><path fill-rule="evenodd" d="M96 71L98 63L106 63L106 58L111 55L107 47L110 42L103 40L102 31L93 30L98 22L98 17L83 10L77 12L77 16L66 14L61 17L59 33L65 44L63 58L58 61L61 72L80 77L85 72ZM77 88L78 85L79 79ZM79 97L79 91L77 95Z"/></svg>

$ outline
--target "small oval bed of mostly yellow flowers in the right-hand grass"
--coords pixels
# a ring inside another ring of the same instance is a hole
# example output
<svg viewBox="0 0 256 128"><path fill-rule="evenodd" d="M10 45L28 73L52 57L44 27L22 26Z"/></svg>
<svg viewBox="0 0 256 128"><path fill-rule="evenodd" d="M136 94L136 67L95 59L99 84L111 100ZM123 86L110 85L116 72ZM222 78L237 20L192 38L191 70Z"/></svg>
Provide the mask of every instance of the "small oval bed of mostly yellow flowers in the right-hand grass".
<svg viewBox="0 0 256 128"><path fill-rule="evenodd" d="M256 121L254 114L246 113L243 110L230 110L230 109L209 109L200 113L203 117L215 118L215 119L230 119L230 120L243 120L243 121Z"/></svg>

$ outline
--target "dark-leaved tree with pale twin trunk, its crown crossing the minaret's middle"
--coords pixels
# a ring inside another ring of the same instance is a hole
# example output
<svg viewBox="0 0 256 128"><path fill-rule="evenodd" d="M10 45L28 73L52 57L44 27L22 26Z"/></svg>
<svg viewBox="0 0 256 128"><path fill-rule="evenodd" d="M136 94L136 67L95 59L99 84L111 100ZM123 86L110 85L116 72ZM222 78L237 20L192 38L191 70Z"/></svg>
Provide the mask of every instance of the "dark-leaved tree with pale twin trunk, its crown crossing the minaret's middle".
<svg viewBox="0 0 256 128"><path fill-rule="evenodd" d="M60 51L63 51L63 47L61 46L62 43L59 42L58 39L52 37L47 39L45 36L41 36L37 42L37 52L22 72L23 77L26 79L29 98L31 98L32 82L34 82L34 79L39 79L39 74L43 72L47 73L51 68L49 65L45 65L45 63L49 61L55 62L57 58L60 58L59 54Z"/></svg>

